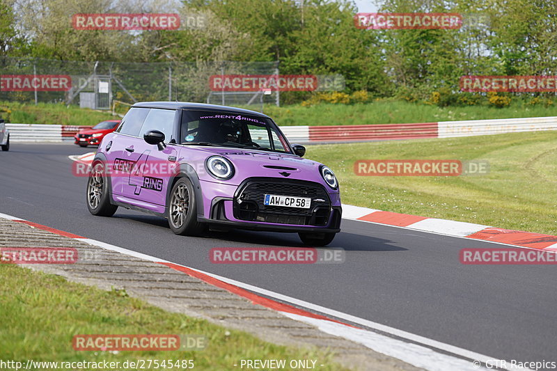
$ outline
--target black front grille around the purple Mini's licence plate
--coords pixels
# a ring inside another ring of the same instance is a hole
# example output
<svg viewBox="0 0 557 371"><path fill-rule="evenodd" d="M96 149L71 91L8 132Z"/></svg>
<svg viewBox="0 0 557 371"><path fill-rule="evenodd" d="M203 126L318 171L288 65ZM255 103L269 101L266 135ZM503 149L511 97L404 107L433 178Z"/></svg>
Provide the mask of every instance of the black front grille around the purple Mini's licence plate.
<svg viewBox="0 0 557 371"><path fill-rule="evenodd" d="M311 198L309 209L263 205L265 194ZM247 180L234 197L236 219L300 226L325 226L331 213L331 200L322 185L302 180Z"/></svg>

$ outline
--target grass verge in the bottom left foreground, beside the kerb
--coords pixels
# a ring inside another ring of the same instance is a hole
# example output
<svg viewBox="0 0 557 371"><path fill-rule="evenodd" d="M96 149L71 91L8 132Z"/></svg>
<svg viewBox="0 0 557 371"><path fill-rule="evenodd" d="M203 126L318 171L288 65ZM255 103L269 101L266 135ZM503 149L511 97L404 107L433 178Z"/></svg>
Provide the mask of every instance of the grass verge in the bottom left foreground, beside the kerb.
<svg viewBox="0 0 557 371"><path fill-rule="evenodd" d="M139 359L194 360L195 370L237 370L244 359L317 359L320 370L347 370L330 355L264 342L241 331L227 330L203 319L168 313L127 297L59 276L0 265L0 359L3 361L120 361ZM208 346L196 352L77 352L78 334L203 335ZM49 368L40 368L47 370ZM94 369L94 368L93 368ZM89 370L81 368L80 370ZM123 368L118 368L123 370ZM290 370L290 368L288 368Z"/></svg>

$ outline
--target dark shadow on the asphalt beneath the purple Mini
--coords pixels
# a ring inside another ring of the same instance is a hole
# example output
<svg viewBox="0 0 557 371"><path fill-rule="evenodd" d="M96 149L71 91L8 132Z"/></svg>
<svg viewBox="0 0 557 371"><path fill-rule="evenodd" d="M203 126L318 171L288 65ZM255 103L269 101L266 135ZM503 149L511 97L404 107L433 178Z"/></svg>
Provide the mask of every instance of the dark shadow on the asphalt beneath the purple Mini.
<svg viewBox="0 0 557 371"><path fill-rule="evenodd" d="M141 223L168 229L168 221L159 216L116 214L113 217L119 219L132 219ZM233 229L228 232L210 231L205 232L205 238L218 239L222 242L240 242L245 244L260 244L265 246L283 247L306 247L302 244L295 233L278 232L256 232L251 230ZM187 237L185 237L187 238ZM340 232L326 248L343 248L345 251L406 251L407 248L394 246L389 239L382 239L368 235L357 235L355 233Z"/></svg>

